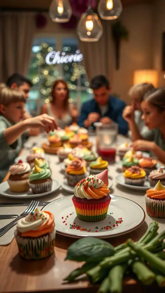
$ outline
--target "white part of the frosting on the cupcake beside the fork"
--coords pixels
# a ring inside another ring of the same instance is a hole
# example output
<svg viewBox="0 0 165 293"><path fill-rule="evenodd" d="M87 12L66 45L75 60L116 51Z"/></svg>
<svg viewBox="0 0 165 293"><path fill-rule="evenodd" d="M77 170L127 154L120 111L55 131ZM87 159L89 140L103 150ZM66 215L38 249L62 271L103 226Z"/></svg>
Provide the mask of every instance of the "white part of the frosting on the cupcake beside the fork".
<svg viewBox="0 0 165 293"><path fill-rule="evenodd" d="M19 219L17 222L17 229L21 233L27 231L36 231L43 223L48 222L49 214L39 211L38 209L35 212L31 212L25 218Z"/></svg>

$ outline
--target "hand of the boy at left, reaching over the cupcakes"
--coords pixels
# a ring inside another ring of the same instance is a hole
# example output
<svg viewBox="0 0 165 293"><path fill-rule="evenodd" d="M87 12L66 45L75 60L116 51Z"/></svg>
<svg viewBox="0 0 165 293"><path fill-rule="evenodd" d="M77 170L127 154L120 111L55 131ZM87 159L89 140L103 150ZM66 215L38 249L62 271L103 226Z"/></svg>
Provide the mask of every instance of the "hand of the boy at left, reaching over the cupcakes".
<svg viewBox="0 0 165 293"><path fill-rule="evenodd" d="M58 127L55 118L47 114L42 114L33 118L26 119L24 120L24 123L28 126L28 128L40 127L46 132L50 132L50 130L54 131Z"/></svg>

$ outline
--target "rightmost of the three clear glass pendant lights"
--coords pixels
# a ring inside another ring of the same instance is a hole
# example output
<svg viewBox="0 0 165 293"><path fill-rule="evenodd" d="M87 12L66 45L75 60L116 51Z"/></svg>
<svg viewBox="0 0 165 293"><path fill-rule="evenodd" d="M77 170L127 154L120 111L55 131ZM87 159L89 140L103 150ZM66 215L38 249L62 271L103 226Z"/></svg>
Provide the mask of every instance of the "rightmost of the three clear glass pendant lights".
<svg viewBox="0 0 165 293"><path fill-rule="evenodd" d="M122 12L121 0L100 0L98 13L102 19L117 19Z"/></svg>

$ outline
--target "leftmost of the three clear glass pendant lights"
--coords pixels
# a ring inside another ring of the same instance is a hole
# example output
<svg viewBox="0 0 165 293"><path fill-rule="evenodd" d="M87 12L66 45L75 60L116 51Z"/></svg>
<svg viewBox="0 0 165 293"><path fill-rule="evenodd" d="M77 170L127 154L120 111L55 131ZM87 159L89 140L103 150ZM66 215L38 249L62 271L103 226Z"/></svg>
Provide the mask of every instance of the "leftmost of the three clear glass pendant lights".
<svg viewBox="0 0 165 293"><path fill-rule="evenodd" d="M49 8L49 16L54 22L68 22L72 16L72 8L69 1L53 0Z"/></svg>

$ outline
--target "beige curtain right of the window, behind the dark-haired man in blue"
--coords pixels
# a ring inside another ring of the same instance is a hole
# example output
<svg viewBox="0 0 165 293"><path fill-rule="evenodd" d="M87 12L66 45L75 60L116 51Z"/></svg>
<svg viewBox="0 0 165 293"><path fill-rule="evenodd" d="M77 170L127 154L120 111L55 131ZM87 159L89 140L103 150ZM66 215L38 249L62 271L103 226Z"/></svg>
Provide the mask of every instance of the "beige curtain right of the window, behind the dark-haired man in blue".
<svg viewBox="0 0 165 293"><path fill-rule="evenodd" d="M102 21L103 34L98 42L82 42L79 48L84 56L83 65L90 81L94 76L103 74L112 80L114 68L114 45L111 35L111 22Z"/></svg>

